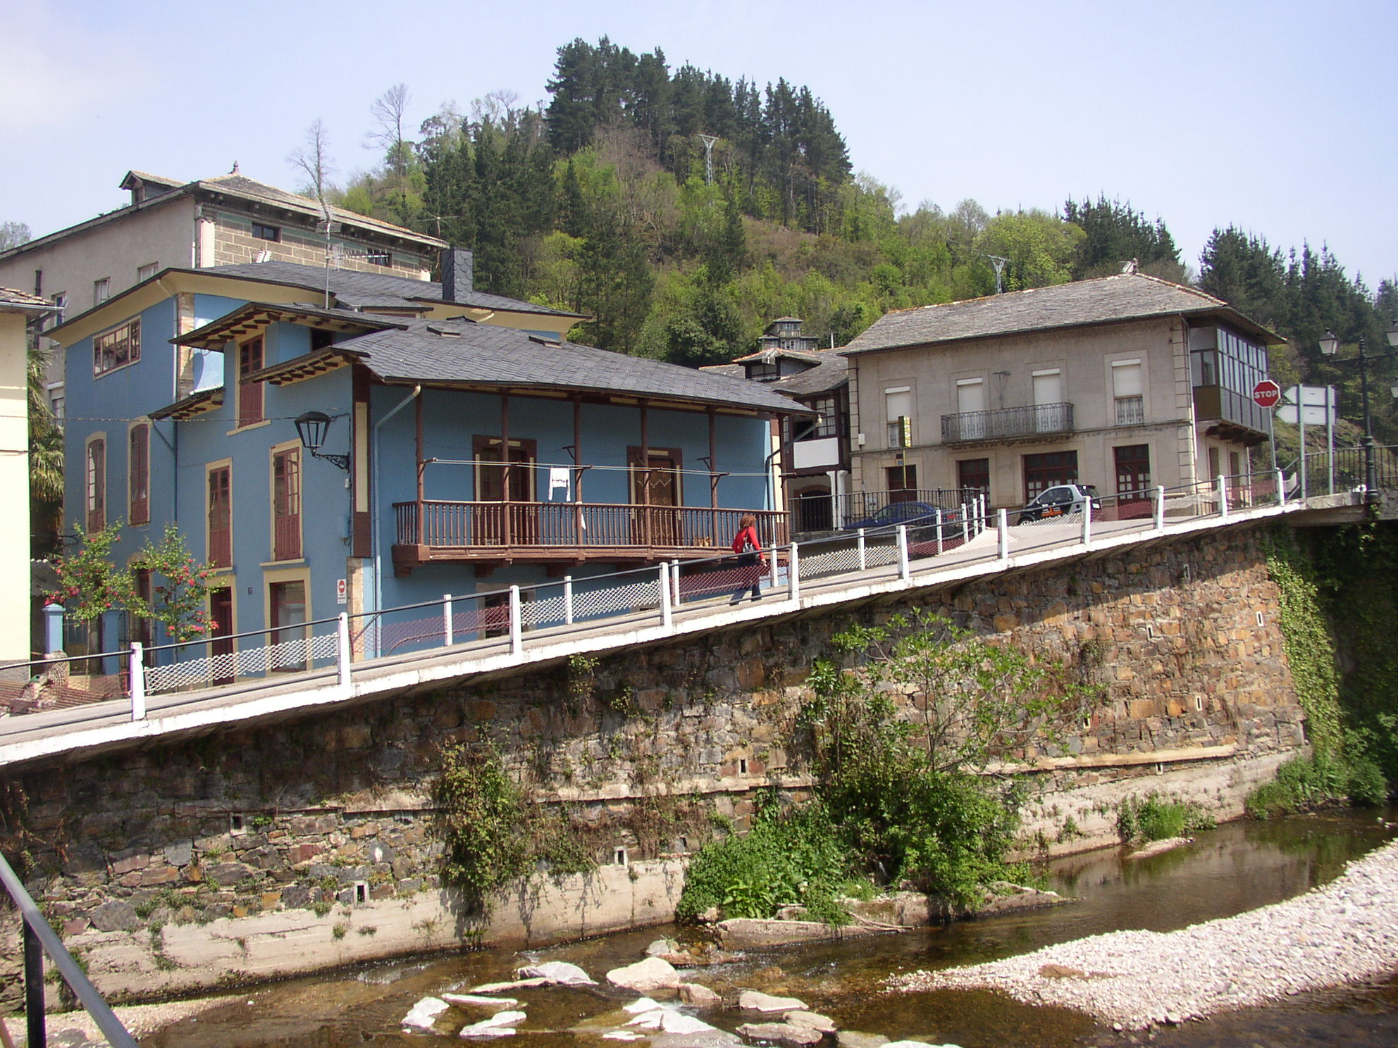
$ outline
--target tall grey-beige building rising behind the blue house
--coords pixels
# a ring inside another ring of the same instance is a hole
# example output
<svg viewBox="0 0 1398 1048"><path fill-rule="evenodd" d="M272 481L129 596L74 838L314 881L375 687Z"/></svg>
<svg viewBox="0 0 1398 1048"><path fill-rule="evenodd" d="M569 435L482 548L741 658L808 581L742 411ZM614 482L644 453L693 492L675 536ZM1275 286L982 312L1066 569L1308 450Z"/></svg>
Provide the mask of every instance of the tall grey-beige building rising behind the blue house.
<svg viewBox="0 0 1398 1048"><path fill-rule="evenodd" d="M165 268L204 270L253 261L324 265L428 279L443 240L331 207L235 170L180 182L131 170L126 207L0 252L0 286L52 299L73 317ZM63 414L63 359L46 340L49 404Z"/></svg>

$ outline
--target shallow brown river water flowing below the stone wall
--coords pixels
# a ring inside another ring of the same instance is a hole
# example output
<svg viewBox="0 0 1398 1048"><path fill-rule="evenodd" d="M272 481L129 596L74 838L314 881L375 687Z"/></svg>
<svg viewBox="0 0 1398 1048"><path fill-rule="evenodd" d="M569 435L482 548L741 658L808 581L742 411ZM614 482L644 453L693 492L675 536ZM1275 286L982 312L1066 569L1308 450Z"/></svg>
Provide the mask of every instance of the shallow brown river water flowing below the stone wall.
<svg viewBox="0 0 1398 1048"><path fill-rule="evenodd" d="M1267 1045L1334 1048L1398 1044L1398 978L1377 985L1310 994L1153 1034L1118 1034L1064 1009L1019 1005L991 992L888 994L884 981L918 968L972 964L1051 943L1128 928L1172 931L1289 898L1332 879L1348 859L1394 833L1395 812L1323 813L1271 823L1233 823L1183 848L1148 859L1103 850L1054 861L1048 887L1079 901L1023 914L962 921L903 935L749 952L738 964L699 970L692 978L720 994L737 988L801 998L840 1026L891 1038L910 1037L963 1048L1071 1048L1151 1041L1160 1048ZM629 964L663 935L651 928L530 952L478 950L365 966L252 988L235 1005L204 1012L143 1038L147 1048L350 1048L424 1044L404 1034L401 1017L422 996L466 992L512 978L519 964L566 960L594 978ZM1183 974L1186 978L1187 973ZM615 1045L601 1040L632 994L538 988L519 991L528 1019L516 1048ZM460 1016L460 1021L480 1019ZM716 1026L747 1021L703 1013ZM450 1026L450 1023L445 1024ZM591 1027L591 1028L589 1028ZM545 1033L547 1031L547 1033Z"/></svg>

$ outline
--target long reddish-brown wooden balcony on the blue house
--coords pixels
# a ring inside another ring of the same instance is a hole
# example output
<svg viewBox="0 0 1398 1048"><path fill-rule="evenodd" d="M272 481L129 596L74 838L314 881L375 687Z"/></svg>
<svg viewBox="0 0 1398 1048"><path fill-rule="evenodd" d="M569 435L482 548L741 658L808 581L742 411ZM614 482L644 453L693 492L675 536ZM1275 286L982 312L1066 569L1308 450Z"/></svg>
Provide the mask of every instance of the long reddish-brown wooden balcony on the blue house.
<svg viewBox="0 0 1398 1048"><path fill-rule="evenodd" d="M393 567L408 574L439 562L498 565L584 560L657 563L727 552L744 513L765 546L787 541L787 514L698 506L591 502L398 502Z"/></svg>

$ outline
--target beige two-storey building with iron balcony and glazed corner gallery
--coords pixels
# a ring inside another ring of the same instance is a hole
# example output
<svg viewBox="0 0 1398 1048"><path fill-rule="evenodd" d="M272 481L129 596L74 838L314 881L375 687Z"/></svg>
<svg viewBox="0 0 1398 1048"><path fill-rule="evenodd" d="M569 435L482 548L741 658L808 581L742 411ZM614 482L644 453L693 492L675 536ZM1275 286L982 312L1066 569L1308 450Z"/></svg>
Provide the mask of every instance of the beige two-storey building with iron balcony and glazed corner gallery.
<svg viewBox="0 0 1398 1048"><path fill-rule="evenodd" d="M843 351L856 490L979 488L1021 506L1248 470L1282 340L1227 303L1120 274L889 313Z"/></svg>

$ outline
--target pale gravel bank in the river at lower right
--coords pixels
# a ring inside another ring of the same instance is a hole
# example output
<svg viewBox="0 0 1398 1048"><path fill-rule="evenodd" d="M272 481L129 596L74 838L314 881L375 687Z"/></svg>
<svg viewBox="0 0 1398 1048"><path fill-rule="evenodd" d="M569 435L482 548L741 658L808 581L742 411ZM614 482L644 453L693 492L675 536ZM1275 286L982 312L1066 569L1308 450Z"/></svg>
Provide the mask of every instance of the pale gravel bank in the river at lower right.
<svg viewBox="0 0 1398 1048"><path fill-rule="evenodd" d="M1169 905L1167 898L1160 905ZM1121 1028L1250 1007L1398 968L1398 843L1285 903L1177 932L1110 932L1021 957L889 980L893 989L1000 989Z"/></svg>

